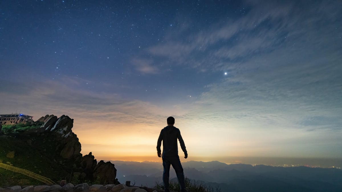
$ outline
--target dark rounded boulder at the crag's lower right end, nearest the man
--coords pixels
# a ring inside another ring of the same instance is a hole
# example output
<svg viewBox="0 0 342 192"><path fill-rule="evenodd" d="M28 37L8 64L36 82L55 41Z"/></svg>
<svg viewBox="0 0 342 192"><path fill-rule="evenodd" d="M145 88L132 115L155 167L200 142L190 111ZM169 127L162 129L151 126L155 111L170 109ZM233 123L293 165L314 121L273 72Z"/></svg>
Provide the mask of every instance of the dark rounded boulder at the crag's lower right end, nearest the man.
<svg viewBox="0 0 342 192"><path fill-rule="evenodd" d="M114 164L108 162L104 162L101 160L97 163L94 168L93 178L100 178L100 183L109 183L109 184L117 184L116 178L116 168Z"/></svg>

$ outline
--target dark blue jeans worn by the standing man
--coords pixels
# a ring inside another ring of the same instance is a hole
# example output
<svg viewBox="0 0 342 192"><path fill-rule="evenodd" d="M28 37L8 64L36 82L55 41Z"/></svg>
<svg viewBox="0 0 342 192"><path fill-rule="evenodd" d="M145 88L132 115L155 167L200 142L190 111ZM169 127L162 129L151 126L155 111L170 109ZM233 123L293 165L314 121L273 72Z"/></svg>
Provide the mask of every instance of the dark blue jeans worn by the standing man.
<svg viewBox="0 0 342 192"><path fill-rule="evenodd" d="M177 179L179 182L179 185L181 187L181 192L186 192L185 189L185 179L184 179L184 172L183 172L183 167L181 164L181 161L179 159L179 156L171 156L171 157L162 157L163 160L163 167L164 167L164 172L163 172L163 183L165 187L165 192L170 191L170 185L169 185L169 176L170 176L170 165L174 168Z"/></svg>

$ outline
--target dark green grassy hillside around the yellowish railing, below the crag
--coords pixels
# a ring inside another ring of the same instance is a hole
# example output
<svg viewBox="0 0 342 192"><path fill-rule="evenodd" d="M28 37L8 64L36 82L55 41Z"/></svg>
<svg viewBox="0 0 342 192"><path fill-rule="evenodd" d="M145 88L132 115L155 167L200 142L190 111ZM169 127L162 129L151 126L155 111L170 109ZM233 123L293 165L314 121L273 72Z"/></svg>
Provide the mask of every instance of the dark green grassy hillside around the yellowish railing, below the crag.
<svg viewBox="0 0 342 192"><path fill-rule="evenodd" d="M19 130L23 127L18 127ZM12 130L18 130L12 129ZM65 171L66 165L60 165L54 161L52 143L49 139L40 140L32 137L29 140L21 140L18 136L2 135L0 136L0 161L2 163L11 164L15 167L26 169L38 175L50 178L54 181L62 180L61 175L68 175ZM29 145L30 142L35 141L40 146L45 146L44 149L37 149ZM41 153L40 151L44 151ZM50 153L50 155L49 155ZM14 186L18 184L44 184L40 181L32 179L26 175L15 173L3 168L0 168L0 186Z"/></svg>

